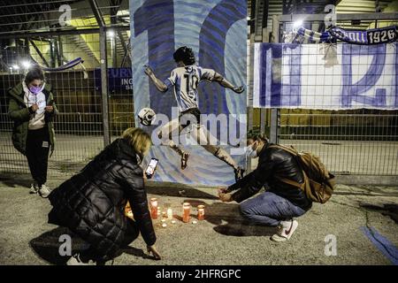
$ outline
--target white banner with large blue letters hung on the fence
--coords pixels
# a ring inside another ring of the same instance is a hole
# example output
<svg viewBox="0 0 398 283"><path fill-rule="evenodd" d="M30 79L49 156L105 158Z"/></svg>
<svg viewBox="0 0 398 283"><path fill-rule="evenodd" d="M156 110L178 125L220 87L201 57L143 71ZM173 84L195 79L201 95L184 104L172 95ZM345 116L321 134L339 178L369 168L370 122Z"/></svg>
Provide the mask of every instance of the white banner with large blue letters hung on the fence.
<svg viewBox="0 0 398 283"><path fill-rule="evenodd" d="M397 45L256 43L253 106L396 110Z"/></svg>

